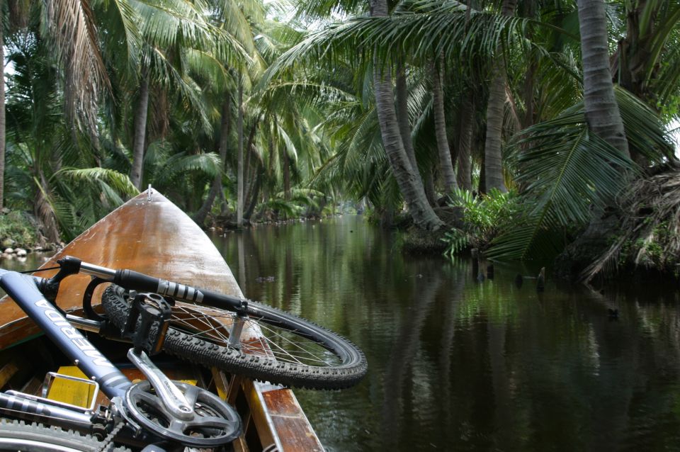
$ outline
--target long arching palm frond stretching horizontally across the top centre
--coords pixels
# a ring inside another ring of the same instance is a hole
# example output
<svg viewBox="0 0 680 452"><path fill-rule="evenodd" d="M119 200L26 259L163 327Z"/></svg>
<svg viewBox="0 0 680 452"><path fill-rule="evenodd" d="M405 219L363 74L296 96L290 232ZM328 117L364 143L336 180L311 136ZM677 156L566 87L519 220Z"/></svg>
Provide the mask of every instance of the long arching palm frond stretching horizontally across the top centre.
<svg viewBox="0 0 680 452"><path fill-rule="evenodd" d="M343 61L365 64L378 58L383 64L404 53L427 60L433 52L454 60L465 55L493 55L499 43L511 47L527 23L497 13L474 11L467 20L457 1L420 0L409 11L388 17L356 17L311 33L272 65L268 77L300 62L336 67ZM514 30L511 31L511 30Z"/></svg>

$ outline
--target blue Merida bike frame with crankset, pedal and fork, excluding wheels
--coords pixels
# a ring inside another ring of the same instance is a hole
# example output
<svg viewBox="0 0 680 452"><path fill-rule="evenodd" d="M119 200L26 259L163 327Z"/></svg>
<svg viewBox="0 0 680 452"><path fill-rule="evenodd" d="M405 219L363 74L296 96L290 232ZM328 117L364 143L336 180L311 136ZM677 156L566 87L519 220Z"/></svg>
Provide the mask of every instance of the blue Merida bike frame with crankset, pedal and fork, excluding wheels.
<svg viewBox="0 0 680 452"><path fill-rule="evenodd" d="M145 290L150 287L149 281L152 281L157 288L164 283L166 293L171 291L183 297L191 297L194 301L203 298L203 293L142 273L113 271L83 264L79 259L72 257L58 262L60 271L48 280L31 278L0 269L0 288L3 288L28 317L38 324L42 332L87 375L89 380L98 384L98 388L111 400L111 407L96 412L96 409L92 408L94 404L89 409L83 409L35 395L8 391L0 393L0 412L11 412L15 417L30 420L47 418L50 424L86 431L101 429L101 426L98 426L101 422L111 426L113 421L121 426L125 424L130 426L135 437L139 437L140 434L152 437L155 435L185 446L222 446L242 433L242 421L233 407L205 389L190 389L193 388L191 385L173 382L147 356L147 353L154 351L154 346L144 344L145 339L143 339L149 334L150 322L163 320L166 318L164 312L170 310L167 301L159 295L149 292L138 293L135 303L143 306L138 309L144 314L141 318L132 314L128 317L128 322L133 329L137 320L140 320L140 324L136 327L137 331L132 337L135 346L128 351L128 359L147 377L146 382L136 384L133 384L106 356L103 356L72 324L74 320L79 319L72 316L67 319L65 313L55 303L60 281L81 270L83 273L95 276L90 286L96 286L96 283L105 281L122 281L132 289ZM239 306L242 305L239 299L236 300ZM151 305L145 303L151 303ZM157 304L154 305L154 303ZM87 295L84 298L84 307L86 305L89 305ZM96 330L106 325L106 322L91 322L91 324L88 322L91 321L84 322L87 324L87 329ZM81 322L77 322L79 323ZM127 330L126 326L125 332ZM142 339L138 343L137 339L140 337ZM149 404L152 410L157 410L161 413L160 415L169 419L167 425L159 424L152 419L152 415L145 407L142 407L142 405L149 406ZM206 432L208 436L198 435L196 437L193 434L196 429L201 433ZM116 429L111 431L113 433Z"/></svg>

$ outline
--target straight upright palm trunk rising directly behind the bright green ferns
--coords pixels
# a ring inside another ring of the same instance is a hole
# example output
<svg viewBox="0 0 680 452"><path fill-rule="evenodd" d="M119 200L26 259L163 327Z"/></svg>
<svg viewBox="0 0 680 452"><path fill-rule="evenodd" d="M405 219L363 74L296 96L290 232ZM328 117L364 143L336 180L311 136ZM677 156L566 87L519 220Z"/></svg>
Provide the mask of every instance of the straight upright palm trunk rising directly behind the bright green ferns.
<svg viewBox="0 0 680 452"><path fill-rule="evenodd" d="M501 13L512 16L517 0L503 0ZM507 191L503 180L503 161L501 154L503 116L505 106L505 64L502 58L503 48L497 47L496 58L492 69L491 84L489 84L489 101L487 103L487 138L484 146L485 189L497 188Z"/></svg>

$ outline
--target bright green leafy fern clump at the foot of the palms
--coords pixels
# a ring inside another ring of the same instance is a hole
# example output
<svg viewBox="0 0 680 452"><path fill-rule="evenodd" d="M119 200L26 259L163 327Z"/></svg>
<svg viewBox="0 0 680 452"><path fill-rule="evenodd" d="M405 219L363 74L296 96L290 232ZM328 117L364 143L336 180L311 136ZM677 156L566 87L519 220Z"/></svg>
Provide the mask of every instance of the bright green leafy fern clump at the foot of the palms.
<svg viewBox="0 0 680 452"><path fill-rule="evenodd" d="M453 227L444 238L448 244L445 254L450 257L467 247L487 249L520 212L519 198L514 191L502 193L495 188L477 197L470 191L455 188L449 205L463 215L463 225Z"/></svg>

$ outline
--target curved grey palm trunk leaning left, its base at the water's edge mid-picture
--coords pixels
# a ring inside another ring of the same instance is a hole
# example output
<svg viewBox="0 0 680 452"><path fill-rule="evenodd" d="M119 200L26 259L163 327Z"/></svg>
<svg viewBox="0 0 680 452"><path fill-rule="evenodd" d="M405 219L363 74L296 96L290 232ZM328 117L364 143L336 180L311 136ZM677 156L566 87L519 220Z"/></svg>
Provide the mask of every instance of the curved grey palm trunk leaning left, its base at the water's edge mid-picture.
<svg viewBox="0 0 680 452"><path fill-rule="evenodd" d="M387 16L387 2L385 0L371 0L370 10L373 17L385 17ZM404 149L404 143L399 132L399 123L397 122L390 70L383 69L380 64L375 64L373 86L382 145L385 147L392 173L397 179L399 191L401 191L407 203L409 214L419 229L438 230L443 226L443 222L427 202L420 175L409 162Z"/></svg>

